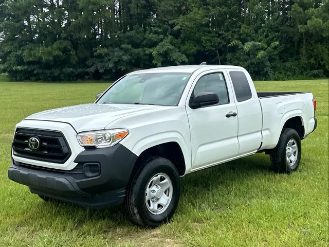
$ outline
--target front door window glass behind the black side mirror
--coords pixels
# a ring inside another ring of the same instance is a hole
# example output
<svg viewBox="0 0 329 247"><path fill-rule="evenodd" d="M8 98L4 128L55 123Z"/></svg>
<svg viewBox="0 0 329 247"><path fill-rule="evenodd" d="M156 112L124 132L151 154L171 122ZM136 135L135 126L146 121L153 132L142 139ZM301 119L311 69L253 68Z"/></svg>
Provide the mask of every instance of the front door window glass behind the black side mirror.
<svg viewBox="0 0 329 247"><path fill-rule="evenodd" d="M220 98L218 104L229 103L227 87L222 73L213 73L201 77L192 92L191 98L194 98L199 93L216 93Z"/></svg>

